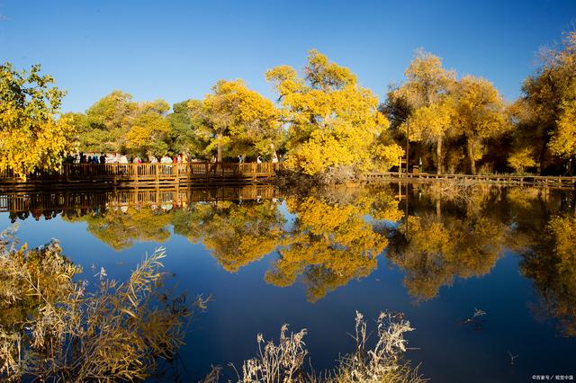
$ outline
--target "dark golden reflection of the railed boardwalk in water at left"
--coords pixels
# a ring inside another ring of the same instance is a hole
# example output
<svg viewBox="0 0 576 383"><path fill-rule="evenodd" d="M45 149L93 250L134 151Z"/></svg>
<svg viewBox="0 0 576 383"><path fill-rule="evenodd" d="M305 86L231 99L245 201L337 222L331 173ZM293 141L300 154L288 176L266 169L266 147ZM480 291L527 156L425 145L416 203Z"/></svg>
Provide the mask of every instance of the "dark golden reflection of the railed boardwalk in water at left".
<svg viewBox="0 0 576 383"><path fill-rule="evenodd" d="M219 200L270 200L278 197L278 191L270 184L249 184L238 187L219 188L156 188L116 189L110 191L19 191L0 192L0 212L20 213L48 217L52 213L67 210L94 208L149 207L166 209L181 208L194 202Z"/></svg>

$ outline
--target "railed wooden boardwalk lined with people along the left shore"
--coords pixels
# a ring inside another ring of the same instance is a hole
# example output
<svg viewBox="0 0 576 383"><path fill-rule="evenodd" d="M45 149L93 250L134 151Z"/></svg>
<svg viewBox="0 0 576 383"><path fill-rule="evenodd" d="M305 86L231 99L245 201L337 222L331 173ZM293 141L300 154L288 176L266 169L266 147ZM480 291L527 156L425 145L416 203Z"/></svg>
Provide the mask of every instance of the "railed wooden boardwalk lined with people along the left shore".
<svg viewBox="0 0 576 383"><path fill-rule="evenodd" d="M275 176L279 163L183 164L65 164L59 171L38 171L26 181L12 170L0 172L0 186L17 184L108 183L112 185L158 185L186 183L254 183Z"/></svg>

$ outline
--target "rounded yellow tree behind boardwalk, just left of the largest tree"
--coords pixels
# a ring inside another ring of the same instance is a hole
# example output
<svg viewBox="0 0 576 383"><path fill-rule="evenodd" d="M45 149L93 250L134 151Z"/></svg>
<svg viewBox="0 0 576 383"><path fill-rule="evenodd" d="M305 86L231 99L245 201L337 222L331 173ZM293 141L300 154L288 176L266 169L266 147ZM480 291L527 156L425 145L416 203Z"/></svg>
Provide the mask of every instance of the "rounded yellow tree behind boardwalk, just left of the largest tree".
<svg viewBox="0 0 576 383"><path fill-rule="evenodd" d="M233 155L274 155L282 138L274 103L242 80L220 80L212 91L202 102L188 102L196 134L209 142L207 154L216 149L219 162L225 149L237 152Z"/></svg>

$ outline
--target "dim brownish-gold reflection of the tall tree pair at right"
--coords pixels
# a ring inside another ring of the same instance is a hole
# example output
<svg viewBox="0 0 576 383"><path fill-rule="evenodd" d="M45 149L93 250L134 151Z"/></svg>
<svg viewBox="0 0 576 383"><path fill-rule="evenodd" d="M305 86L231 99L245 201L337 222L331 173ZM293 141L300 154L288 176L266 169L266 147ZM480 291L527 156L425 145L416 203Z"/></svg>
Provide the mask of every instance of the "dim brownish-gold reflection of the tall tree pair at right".
<svg viewBox="0 0 576 383"><path fill-rule="evenodd" d="M455 278L491 271L509 237L509 227L491 218L476 201L463 209L419 209L392 230L388 256L406 273L404 285L417 300L435 298ZM433 212L435 209L436 212Z"/></svg>

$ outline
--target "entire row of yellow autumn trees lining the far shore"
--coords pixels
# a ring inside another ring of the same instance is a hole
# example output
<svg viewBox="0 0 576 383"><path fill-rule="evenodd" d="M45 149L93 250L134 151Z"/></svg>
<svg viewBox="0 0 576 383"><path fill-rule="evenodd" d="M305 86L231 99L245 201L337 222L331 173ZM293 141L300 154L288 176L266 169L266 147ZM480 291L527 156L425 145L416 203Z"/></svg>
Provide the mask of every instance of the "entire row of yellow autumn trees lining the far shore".
<svg viewBox="0 0 576 383"><path fill-rule="evenodd" d="M53 79L2 66L0 169L17 174L57 168L76 146L85 152L139 156L186 153L278 158L319 180L385 171L411 151L425 169L572 174L576 165L576 32L543 51L522 96L505 102L485 78L458 77L437 56L417 50L405 81L377 97L347 67L312 49L299 74L266 72L277 104L240 79L220 80L201 100L136 102L119 90L85 113L58 116L63 93ZM408 141L408 144L407 144ZM77 144L77 145L76 145Z"/></svg>

